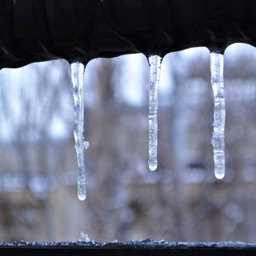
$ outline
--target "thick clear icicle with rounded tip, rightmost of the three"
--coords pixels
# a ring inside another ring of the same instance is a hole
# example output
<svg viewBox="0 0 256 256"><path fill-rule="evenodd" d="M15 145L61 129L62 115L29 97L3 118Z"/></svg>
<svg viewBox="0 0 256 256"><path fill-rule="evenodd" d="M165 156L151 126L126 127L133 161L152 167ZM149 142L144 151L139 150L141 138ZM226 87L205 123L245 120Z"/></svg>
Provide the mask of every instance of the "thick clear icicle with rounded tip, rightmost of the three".
<svg viewBox="0 0 256 256"><path fill-rule="evenodd" d="M214 96L213 145L215 176L225 176L225 93L223 80L223 55L211 53L211 86Z"/></svg>

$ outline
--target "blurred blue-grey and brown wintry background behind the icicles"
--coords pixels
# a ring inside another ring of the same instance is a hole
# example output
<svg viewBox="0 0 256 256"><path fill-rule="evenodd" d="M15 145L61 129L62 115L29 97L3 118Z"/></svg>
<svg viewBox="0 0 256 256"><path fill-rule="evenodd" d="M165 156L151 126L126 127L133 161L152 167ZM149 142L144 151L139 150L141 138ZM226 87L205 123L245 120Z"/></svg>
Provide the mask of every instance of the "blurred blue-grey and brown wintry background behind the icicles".
<svg viewBox="0 0 256 256"><path fill-rule="evenodd" d="M210 53L164 57L159 168L148 161L144 55L94 59L85 72L88 198L77 197L73 97L65 60L0 72L0 240L256 242L256 50L225 51L226 175L211 146Z"/></svg>

